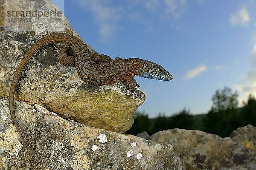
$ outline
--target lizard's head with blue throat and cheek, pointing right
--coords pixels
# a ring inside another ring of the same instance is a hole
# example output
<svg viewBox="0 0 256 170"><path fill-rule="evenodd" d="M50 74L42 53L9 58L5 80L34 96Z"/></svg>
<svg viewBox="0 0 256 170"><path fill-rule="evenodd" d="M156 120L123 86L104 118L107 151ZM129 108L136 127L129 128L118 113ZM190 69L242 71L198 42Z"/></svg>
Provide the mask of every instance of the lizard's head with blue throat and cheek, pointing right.
<svg viewBox="0 0 256 170"><path fill-rule="evenodd" d="M161 65L145 60L140 74L137 76L147 79L158 79L164 81L172 80L172 74L166 71Z"/></svg>

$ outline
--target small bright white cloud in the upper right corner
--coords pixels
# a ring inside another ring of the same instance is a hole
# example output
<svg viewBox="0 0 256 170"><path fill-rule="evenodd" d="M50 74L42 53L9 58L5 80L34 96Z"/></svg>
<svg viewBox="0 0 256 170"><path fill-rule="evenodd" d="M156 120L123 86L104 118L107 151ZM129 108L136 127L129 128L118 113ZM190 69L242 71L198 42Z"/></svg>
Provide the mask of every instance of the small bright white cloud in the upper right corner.
<svg viewBox="0 0 256 170"><path fill-rule="evenodd" d="M250 15L246 7L243 6L239 11L230 15L230 23L235 25L247 26L250 21Z"/></svg>

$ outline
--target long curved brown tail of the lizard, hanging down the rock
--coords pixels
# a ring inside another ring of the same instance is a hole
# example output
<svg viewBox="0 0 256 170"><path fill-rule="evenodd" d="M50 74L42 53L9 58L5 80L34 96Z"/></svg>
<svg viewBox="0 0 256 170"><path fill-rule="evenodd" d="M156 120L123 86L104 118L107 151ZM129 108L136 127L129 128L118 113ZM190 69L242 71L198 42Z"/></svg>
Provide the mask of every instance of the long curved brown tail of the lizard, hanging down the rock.
<svg viewBox="0 0 256 170"><path fill-rule="evenodd" d="M79 40L76 37L71 36L70 34L51 34L51 35L44 37L41 40L35 42L35 44L32 45L31 48L29 48L29 50L26 52L24 57L20 60L20 63L15 71L15 74L13 75L12 84L10 87L9 107L10 107L10 112L11 112L11 116L12 116L12 121L17 129L17 132L20 135L21 142L23 143L24 146L26 146L26 143L25 143L23 135L20 131L20 126L17 122L16 116L15 116L15 111L14 111L14 94L15 94L15 90L17 88L17 85L18 85L18 82L20 79L20 75L21 75L23 69L26 67L26 65L28 64L29 60L33 57L35 52L38 51L39 49L43 48L44 46L55 43L55 42L61 42L61 43L66 43L66 44L70 45L72 48L73 43L74 42L78 43L79 41L81 42L81 40Z"/></svg>

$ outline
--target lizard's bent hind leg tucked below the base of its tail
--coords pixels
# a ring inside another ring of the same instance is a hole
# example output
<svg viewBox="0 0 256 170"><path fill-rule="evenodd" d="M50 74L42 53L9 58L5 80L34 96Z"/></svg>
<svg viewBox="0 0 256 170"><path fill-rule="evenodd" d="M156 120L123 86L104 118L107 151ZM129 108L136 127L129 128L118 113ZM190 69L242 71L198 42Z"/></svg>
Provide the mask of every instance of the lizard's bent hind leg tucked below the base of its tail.
<svg viewBox="0 0 256 170"><path fill-rule="evenodd" d="M59 54L59 62L61 65L75 65L75 55L68 45L59 45L56 47Z"/></svg>

